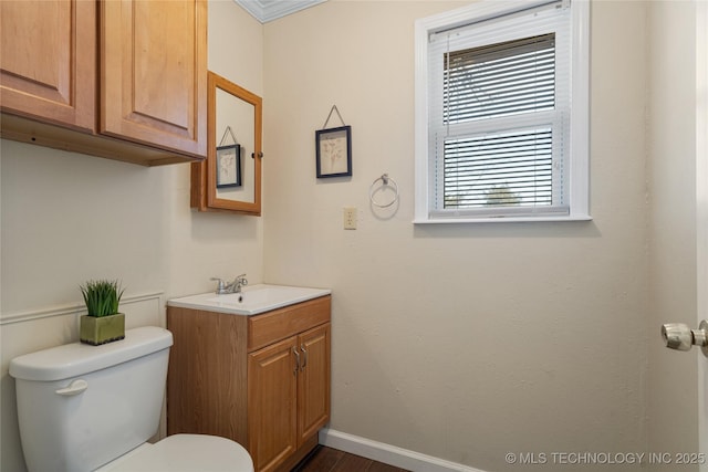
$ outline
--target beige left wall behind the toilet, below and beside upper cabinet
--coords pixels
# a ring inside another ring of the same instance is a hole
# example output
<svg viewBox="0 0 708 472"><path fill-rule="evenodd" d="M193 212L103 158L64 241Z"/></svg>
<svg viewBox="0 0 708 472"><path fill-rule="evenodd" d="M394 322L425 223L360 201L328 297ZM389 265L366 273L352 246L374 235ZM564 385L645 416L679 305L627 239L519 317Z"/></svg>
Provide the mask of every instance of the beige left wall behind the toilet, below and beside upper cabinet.
<svg viewBox="0 0 708 472"><path fill-rule="evenodd" d="M262 25L231 1L210 1L209 35L210 70L262 94ZM79 284L121 279L126 298L152 294L123 304L127 323L159 324L167 298L209 291L211 276L247 272L261 282L263 224L190 210L189 165L144 168L9 140L0 146L0 470L15 472L24 462L9 361L77 338L77 310L70 307L81 302ZM96 220L102 212L106 218ZM8 322L18 315L21 322Z"/></svg>

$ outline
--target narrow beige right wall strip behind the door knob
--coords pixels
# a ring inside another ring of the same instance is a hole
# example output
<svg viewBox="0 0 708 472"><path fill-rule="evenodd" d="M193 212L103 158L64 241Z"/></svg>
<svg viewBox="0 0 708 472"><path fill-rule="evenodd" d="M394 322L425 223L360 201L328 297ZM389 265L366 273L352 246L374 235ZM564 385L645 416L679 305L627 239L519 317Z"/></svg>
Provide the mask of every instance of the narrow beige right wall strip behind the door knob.
<svg viewBox="0 0 708 472"><path fill-rule="evenodd" d="M658 336L663 323L697 324L695 4L652 2L648 18L648 449L698 451L696 367L705 359L670 352Z"/></svg>

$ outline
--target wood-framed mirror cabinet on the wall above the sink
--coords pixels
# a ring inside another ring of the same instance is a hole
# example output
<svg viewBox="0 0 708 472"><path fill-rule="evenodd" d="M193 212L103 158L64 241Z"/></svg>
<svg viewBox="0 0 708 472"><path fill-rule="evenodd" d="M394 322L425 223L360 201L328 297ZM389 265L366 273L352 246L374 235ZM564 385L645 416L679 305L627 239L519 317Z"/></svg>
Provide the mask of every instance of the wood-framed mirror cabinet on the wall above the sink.
<svg viewBox="0 0 708 472"><path fill-rule="evenodd" d="M262 107L260 96L208 72L207 159L191 165L192 208L261 214Z"/></svg>

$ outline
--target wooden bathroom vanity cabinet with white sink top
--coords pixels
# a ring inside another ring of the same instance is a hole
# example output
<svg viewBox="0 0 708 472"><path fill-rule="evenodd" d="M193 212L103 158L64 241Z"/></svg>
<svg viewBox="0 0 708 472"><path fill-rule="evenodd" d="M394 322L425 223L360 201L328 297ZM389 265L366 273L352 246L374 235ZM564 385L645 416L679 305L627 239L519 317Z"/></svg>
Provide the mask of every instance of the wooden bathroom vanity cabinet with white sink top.
<svg viewBox="0 0 708 472"><path fill-rule="evenodd" d="M254 285L171 300L167 432L233 439L287 471L330 418L329 290Z"/></svg>

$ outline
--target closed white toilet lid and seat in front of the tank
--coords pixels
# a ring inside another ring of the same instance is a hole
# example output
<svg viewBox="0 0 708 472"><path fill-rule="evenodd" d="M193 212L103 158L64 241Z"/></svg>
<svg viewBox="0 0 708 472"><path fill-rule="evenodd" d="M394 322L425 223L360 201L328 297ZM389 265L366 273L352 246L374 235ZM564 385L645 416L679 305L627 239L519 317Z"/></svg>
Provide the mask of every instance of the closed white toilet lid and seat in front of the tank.
<svg viewBox="0 0 708 472"><path fill-rule="evenodd" d="M253 472L246 449L226 438L175 434L145 443L107 463L97 472Z"/></svg>

